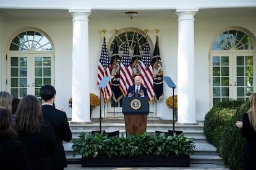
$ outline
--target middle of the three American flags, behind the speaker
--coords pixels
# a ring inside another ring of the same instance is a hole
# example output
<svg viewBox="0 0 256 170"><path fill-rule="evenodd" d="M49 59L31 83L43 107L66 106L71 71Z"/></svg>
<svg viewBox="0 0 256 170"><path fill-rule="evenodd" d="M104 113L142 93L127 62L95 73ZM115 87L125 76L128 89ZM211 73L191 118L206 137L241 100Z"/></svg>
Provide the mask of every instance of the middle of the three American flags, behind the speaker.
<svg viewBox="0 0 256 170"><path fill-rule="evenodd" d="M127 44L127 36L124 41L124 52L122 54L120 65L120 83L119 87L123 95L126 95L128 88L132 86L132 67L130 65L130 55Z"/></svg>

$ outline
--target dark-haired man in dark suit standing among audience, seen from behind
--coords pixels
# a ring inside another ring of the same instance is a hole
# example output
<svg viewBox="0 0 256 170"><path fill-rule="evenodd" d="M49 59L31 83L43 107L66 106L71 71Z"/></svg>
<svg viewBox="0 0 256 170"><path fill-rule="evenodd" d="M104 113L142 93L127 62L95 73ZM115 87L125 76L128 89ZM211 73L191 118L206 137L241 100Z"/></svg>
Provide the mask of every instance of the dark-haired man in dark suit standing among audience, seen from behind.
<svg viewBox="0 0 256 170"><path fill-rule="evenodd" d="M44 85L40 88L43 118L51 123L57 140L55 154L50 157L51 170L63 170L67 167L67 160L62 140L69 142L72 139L72 133L66 113L53 106L55 95L56 90L51 85Z"/></svg>

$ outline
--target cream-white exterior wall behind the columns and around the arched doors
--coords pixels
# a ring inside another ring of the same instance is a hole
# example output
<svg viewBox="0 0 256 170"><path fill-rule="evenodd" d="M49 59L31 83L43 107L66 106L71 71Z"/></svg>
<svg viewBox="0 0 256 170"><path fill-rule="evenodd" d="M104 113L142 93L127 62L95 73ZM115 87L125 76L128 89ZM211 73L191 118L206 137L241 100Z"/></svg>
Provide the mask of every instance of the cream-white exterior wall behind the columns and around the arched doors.
<svg viewBox="0 0 256 170"><path fill-rule="evenodd" d="M209 108L209 65L208 53L210 42L224 28L230 26L241 26L251 31L256 36L255 16L242 17L216 17L197 18L195 15L195 97L197 120L203 120ZM11 36L24 27L33 27L45 31L53 41L55 49L55 87L57 90L56 107L64 108L68 117L71 117L71 109L68 107L68 100L72 94L72 17L70 18L2 18L0 20L0 52L1 52L1 84L0 90L5 90L6 79L6 46L9 46ZM106 29L106 42L108 43L114 34L114 29L139 28L149 30L153 45L155 46L155 32L158 28L160 42L160 55L163 61L164 76L170 76L177 84L177 18L144 18L137 20L126 18L89 18L89 47L90 47L90 77L81 78L88 82L90 92L100 96L96 86L96 75L98 60L100 59L101 47L103 43L102 29ZM151 47L153 48L153 47ZM108 49L109 50L109 49ZM151 52L153 55L153 52ZM109 53L109 57L112 52ZM132 54L130 54L132 56ZM189 84L188 84L189 86ZM177 86L179 88L179 86ZM177 89L175 89L175 94ZM164 97L157 104L157 115L161 119L172 119L171 111L165 105L165 100L169 95L173 95L173 90L164 83ZM155 102L154 102L155 104ZM100 107L93 109L93 117L98 117Z"/></svg>

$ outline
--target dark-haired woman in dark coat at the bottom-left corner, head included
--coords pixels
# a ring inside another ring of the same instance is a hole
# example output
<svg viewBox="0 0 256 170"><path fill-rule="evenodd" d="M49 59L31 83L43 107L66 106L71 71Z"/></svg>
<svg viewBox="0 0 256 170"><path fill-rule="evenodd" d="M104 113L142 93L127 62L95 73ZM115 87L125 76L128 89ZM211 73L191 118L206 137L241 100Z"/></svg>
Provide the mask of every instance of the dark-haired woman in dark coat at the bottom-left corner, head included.
<svg viewBox="0 0 256 170"><path fill-rule="evenodd" d="M0 167L1 169L32 169L22 141L15 139L11 112L0 107Z"/></svg>

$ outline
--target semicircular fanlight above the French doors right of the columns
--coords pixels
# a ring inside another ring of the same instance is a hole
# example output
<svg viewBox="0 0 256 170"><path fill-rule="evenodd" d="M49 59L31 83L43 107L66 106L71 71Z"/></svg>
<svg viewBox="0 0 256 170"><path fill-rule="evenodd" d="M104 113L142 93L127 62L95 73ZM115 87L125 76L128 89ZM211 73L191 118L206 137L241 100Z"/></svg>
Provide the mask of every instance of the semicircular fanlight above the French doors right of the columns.
<svg viewBox="0 0 256 170"><path fill-rule="evenodd" d="M219 34L213 41L212 51L255 49L252 38L239 30L228 30Z"/></svg>

